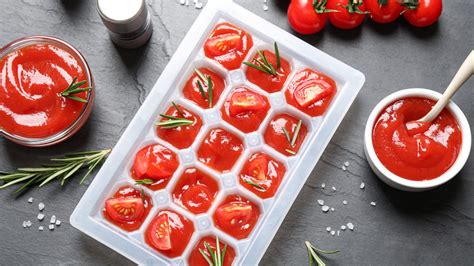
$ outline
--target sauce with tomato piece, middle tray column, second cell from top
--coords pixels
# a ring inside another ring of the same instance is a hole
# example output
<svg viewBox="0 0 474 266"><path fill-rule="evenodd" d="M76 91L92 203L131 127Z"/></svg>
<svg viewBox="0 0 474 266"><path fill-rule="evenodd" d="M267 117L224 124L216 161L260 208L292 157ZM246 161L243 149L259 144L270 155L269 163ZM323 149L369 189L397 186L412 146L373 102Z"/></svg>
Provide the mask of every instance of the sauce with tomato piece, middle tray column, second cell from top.
<svg viewBox="0 0 474 266"><path fill-rule="evenodd" d="M265 96L246 87L233 89L221 108L222 117L245 133L256 131L267 116L270 104Z"/></svg>

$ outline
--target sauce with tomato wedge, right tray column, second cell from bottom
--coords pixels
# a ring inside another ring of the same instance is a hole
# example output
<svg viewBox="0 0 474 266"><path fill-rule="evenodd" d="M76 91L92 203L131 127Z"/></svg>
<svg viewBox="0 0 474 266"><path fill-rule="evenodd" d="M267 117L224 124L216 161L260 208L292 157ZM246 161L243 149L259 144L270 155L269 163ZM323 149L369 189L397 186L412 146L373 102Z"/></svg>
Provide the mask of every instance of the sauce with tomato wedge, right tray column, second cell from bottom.
<svg viewBox="0 0 474 266"><path fill-rule="evenodd" d="M255 203L239 195L230 195L217 207L214 223L227 234L244 239L252 232L259 216L260 209Z"/></svg>

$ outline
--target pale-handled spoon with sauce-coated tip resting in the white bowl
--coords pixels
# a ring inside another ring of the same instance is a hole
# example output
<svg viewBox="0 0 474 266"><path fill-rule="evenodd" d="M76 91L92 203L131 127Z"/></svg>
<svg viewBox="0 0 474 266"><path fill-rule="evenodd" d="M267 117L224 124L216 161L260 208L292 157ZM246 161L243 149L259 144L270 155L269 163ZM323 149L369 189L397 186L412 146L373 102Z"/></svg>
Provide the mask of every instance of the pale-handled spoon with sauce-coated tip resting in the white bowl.
<svg viewBox="0 0 474 266"><path fill-rule="evenodd" d="M449 83L448 88L444 91L443 95L438 102L436 102L431 111L418 120L406 123L408 133L415 135L428 130L431 126L431 122L439 115L439 113L441 113L444 107L449 103L451 97L472 75L474 75L474 50L472 50L466 60L464 60L464 63L462 63L453 80Z"/></svg>

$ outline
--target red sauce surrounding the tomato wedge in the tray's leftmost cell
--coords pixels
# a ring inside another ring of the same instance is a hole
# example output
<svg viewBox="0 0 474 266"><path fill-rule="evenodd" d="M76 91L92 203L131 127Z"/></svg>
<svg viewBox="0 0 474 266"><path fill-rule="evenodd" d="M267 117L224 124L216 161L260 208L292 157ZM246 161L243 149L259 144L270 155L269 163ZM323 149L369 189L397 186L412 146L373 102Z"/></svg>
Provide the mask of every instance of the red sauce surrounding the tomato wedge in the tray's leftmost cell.
<svg viewBox="0 0 474 266"><path fill-rule="evenodd" d="M142 197L143 196L143 197ZM114 218L109 215L109 211L113 210L108 210L107 208L104 207L102 210L102 213L109 222L113 223L114 225L122 228L125 231L134 231L140 228L140 226L143 224L143 221L146 219L148 216L148 213L150 212L151 208L153 207L151 198L144 193L142 195L142 192L131 187L131 186L122 186L120 187L117 192L112 196L111 199L122 199L122 198L133 198L133 199L142 199L143 200L143 207L144 207L144 212L142 215L137 217L137 219L134 219L132 221L121 221L121 220L114 220Z"/></svg>

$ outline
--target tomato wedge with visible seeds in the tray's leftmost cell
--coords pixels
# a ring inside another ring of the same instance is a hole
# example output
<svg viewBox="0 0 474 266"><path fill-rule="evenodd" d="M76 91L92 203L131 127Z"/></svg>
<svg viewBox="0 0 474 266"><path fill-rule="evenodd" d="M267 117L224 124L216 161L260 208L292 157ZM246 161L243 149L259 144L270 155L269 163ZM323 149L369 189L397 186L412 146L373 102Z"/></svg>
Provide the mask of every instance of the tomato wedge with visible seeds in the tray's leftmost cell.
<svg viewBox="0 0 474 266"><path fill-rule="evenodd" d="M117 222L132 222L145 213L141 198L111 198L105 202L107 214Z"/></svg>

